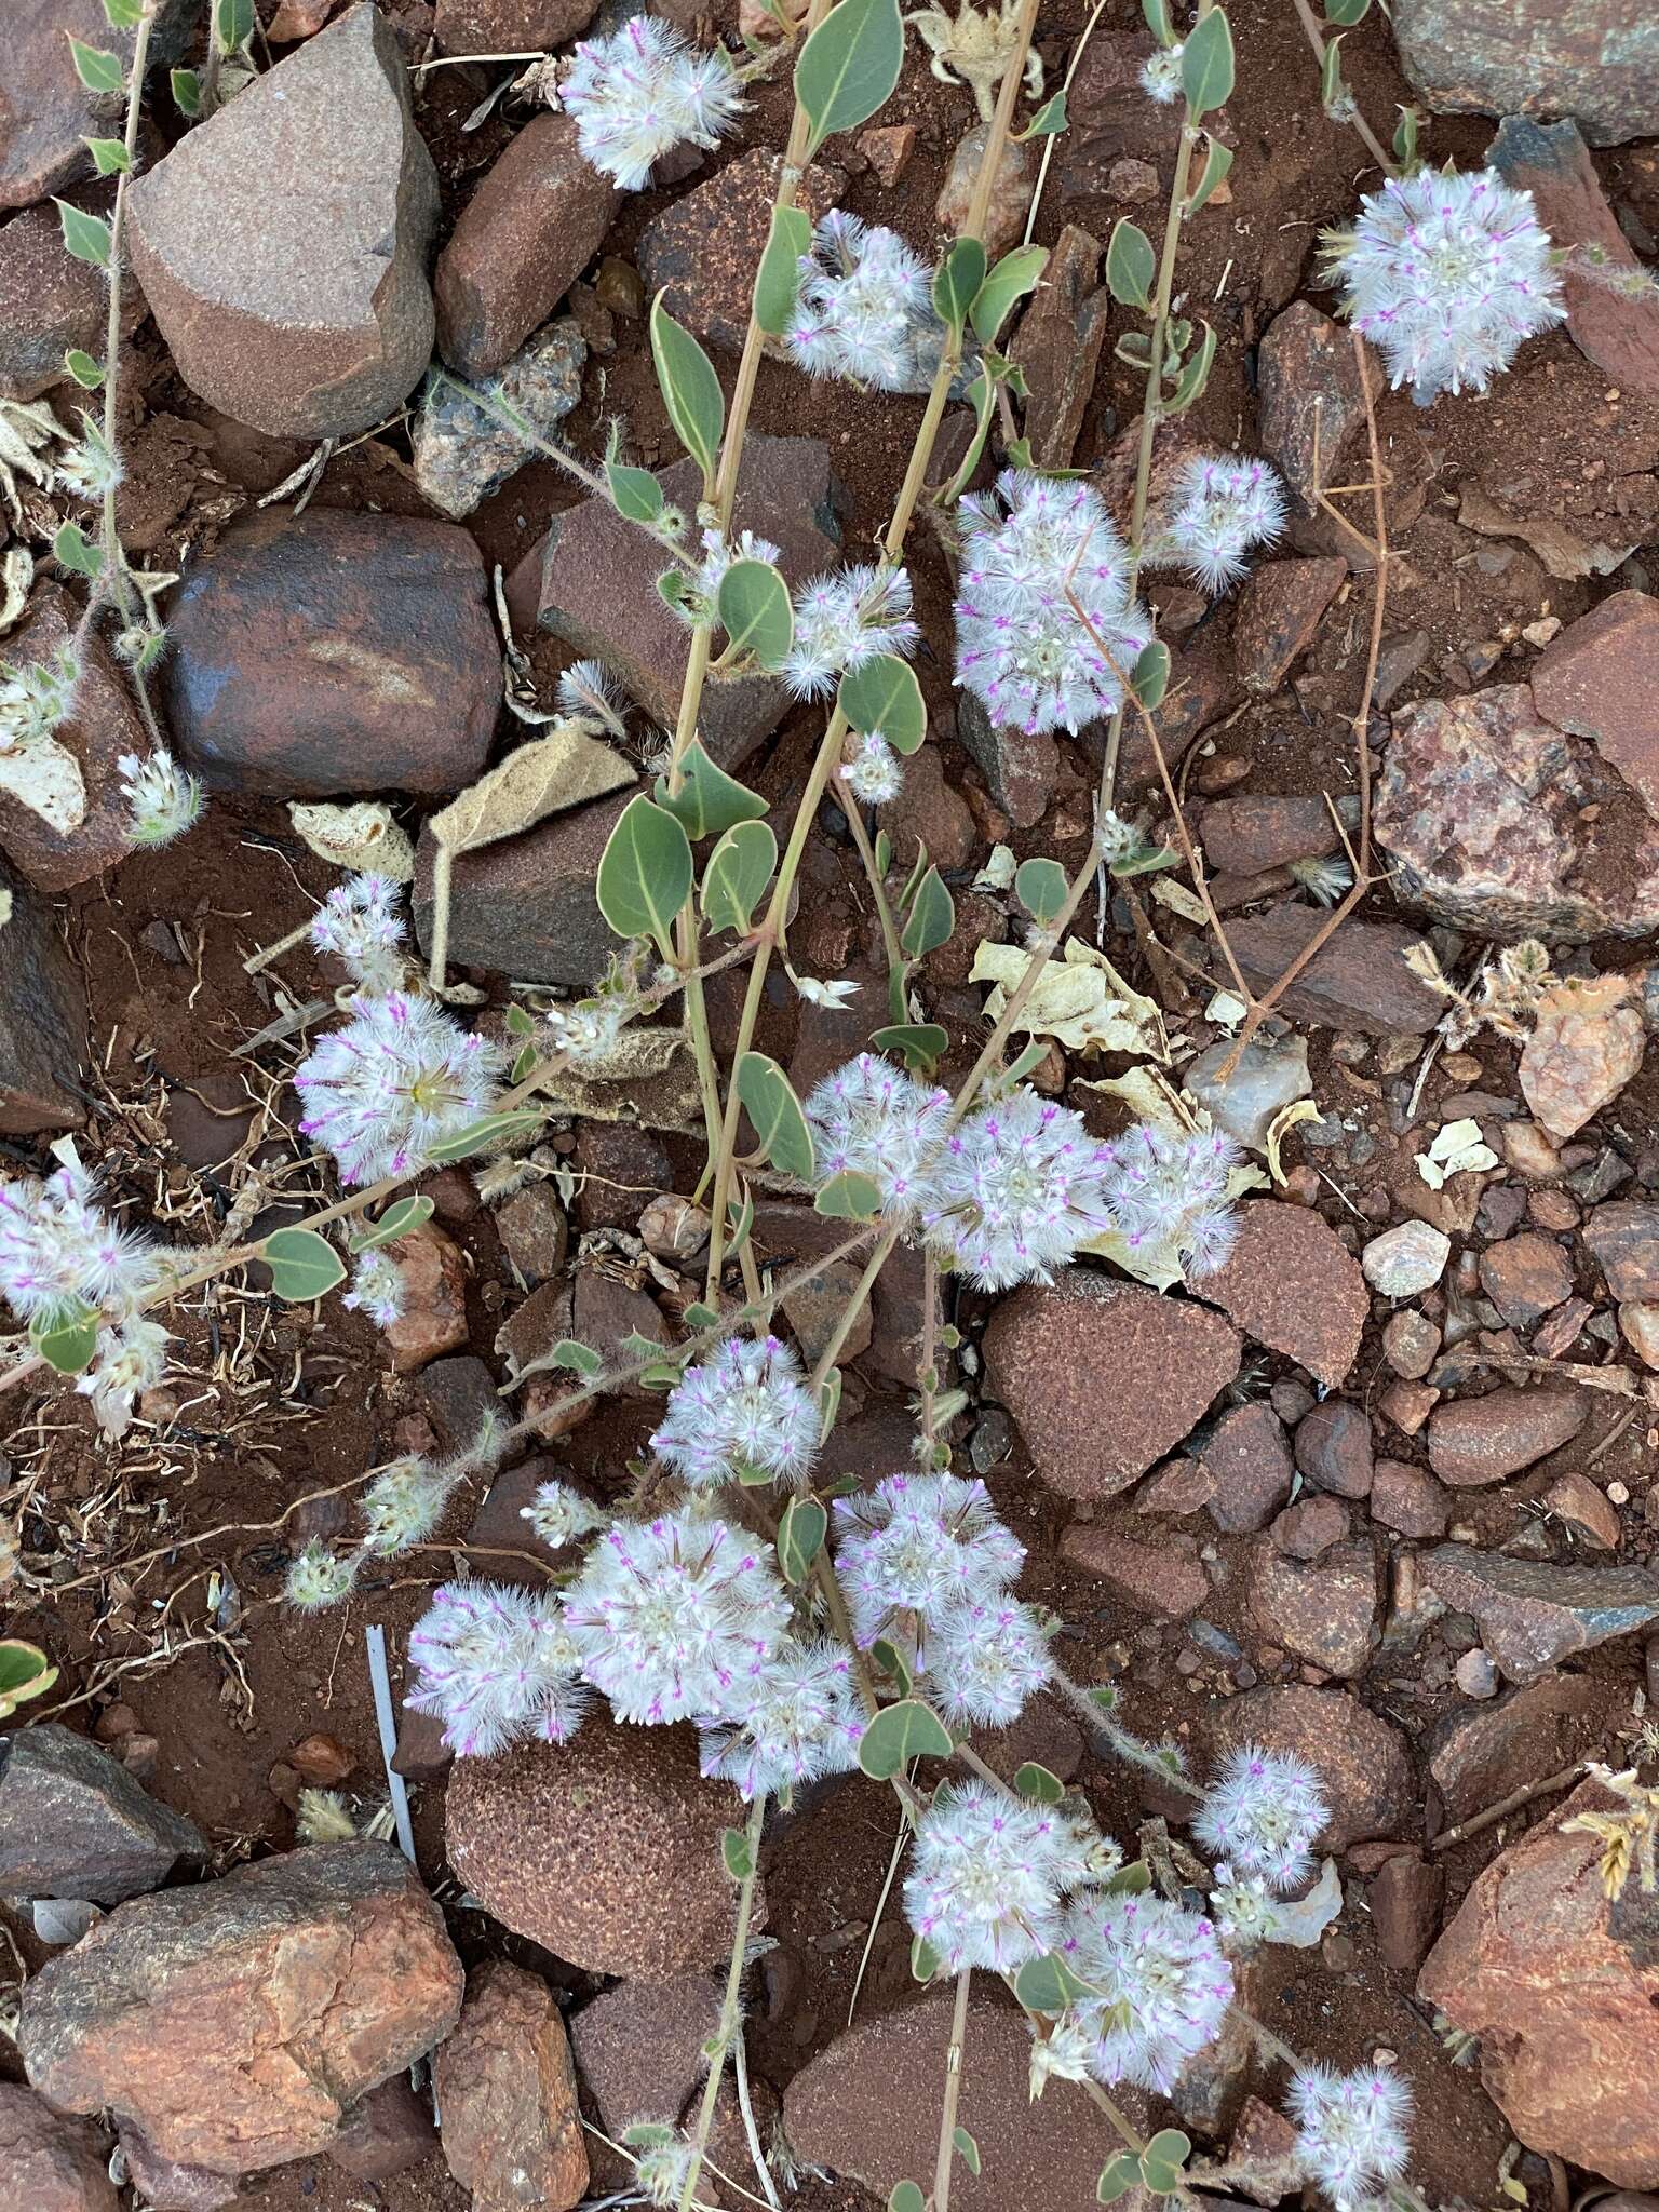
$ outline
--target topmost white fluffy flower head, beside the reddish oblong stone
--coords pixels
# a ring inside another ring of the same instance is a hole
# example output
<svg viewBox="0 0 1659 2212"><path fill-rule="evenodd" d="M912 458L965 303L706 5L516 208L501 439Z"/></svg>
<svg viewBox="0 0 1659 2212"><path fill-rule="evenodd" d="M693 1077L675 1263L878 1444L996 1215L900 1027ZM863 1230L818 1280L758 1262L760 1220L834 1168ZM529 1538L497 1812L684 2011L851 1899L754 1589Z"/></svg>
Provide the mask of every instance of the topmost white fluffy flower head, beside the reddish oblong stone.
<svg viewBox="0 0 1659 2212"><path fill-rule="evenodd" d="M586 161L624 192L644 192L653 161L675 146L712 153L743 113L726 53L699 53L657 15L633 15L611 38L582 38L560 86Z"/></svg>

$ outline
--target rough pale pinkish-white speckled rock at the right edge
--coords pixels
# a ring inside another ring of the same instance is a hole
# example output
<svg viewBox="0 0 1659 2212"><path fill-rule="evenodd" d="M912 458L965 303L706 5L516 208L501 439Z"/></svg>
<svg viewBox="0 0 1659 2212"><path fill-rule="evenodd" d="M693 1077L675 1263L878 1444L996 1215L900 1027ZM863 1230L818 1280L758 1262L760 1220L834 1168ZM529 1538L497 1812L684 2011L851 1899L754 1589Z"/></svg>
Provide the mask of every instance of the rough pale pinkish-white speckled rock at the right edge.
<svg viewBox="0 0 1659 2212"><path fill-rule="evenodd" d="M1394 714L1376 836L1396 863L1396 896L1493 936L1641 936L1659 925L1659 836L1595 748L1533 701L1526 684L1491 684ZM1617 867L1613 827L1632 845Z"/></svg>

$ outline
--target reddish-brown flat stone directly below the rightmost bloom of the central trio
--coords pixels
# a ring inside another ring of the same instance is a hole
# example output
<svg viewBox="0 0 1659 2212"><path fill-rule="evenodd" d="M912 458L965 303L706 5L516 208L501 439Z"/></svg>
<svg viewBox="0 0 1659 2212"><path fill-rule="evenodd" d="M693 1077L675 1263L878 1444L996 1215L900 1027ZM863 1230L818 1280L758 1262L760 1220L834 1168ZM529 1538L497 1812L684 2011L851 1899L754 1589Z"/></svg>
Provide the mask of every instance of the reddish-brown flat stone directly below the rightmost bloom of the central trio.
<svg viewBox="0 0 1659 2212"><path fill-rule="evenodd" d="M1371 1312L1365 1276L1329 1223L1305 1206L1252 1199L1223 1267L1197 1292L1245 1336L1298 1360L1327 1389L1347 1376Z"/></svg>

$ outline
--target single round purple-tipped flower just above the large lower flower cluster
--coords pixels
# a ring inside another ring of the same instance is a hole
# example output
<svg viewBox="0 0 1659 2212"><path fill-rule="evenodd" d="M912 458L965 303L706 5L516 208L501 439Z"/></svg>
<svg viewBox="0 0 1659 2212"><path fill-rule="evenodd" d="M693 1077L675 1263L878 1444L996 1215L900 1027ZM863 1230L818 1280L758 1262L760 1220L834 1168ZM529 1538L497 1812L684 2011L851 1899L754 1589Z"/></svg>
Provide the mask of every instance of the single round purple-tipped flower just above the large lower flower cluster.
<svg viewBox="0 0 1659 2212"><path fill-rule="evenodd" d="M728 1338L668 1394L650 1449L695 1489L792 1482L818 1449L818 1407L776 1336Z"/></svg>

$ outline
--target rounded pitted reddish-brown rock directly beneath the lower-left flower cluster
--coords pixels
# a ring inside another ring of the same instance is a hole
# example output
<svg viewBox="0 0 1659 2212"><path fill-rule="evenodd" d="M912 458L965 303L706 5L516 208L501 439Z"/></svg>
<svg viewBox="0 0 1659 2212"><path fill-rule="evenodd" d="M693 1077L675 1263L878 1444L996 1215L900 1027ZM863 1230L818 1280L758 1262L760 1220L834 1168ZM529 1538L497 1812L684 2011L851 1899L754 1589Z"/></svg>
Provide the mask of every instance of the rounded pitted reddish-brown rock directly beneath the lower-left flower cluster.
<svg viewBox="0 0 1659 2212"><path fill-rule="evenodd" d="M661 1980L730 1947L719 1838L743 1805L701 1778L690 1728L595 1712L564 1745L460 1759L445 1816L449 1858L487 1911L573 1966Z"/></svg>

